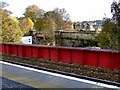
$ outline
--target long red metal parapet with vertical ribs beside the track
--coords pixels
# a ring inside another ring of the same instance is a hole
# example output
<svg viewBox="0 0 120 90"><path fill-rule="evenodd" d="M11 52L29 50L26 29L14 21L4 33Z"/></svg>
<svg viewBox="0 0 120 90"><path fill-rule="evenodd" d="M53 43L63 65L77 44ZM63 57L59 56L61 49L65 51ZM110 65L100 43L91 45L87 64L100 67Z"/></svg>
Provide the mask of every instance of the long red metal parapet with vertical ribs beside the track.
<svg viewBox="0 0 120 90"><path fill-rule="evenodd" d="M119 51L12 43L1 43L0 47L0 52L8 55L55 60L57 62L77 63L120 70Z"/></svg>

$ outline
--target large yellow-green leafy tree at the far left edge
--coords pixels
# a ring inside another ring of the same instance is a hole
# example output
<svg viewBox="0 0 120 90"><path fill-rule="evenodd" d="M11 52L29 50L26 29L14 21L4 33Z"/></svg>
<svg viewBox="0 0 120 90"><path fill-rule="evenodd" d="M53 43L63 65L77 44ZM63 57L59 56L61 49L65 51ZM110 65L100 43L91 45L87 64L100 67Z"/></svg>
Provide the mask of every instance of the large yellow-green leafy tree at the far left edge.
<svg viewBox="0 0 120 90"><path fill-rule="evenodd" d="M2 7L0 10L0 13L2 15L2 18L1 18L2 35L0 39L2 42L20 43L21 42L20 37L22 36L22 32L19 28L18 21L14 17L10 16L11 14L10 11L3 9L4 6L6 6L3 4L6 4L6 3L0 4L0 7Z"/></svg>

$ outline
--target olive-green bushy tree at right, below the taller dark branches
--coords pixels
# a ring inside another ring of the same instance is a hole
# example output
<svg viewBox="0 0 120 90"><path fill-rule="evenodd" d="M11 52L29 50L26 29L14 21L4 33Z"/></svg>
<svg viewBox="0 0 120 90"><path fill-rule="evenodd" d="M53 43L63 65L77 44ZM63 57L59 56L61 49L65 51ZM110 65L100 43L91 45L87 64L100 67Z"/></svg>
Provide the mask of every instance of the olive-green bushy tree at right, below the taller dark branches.
<svg viewBox="0 0 120 90"><path fill-rule="evenodd" d="M104 22L103 30L97 37L99 46L103 49L118 50L118 30L117 25L107 19Z"/></svg>

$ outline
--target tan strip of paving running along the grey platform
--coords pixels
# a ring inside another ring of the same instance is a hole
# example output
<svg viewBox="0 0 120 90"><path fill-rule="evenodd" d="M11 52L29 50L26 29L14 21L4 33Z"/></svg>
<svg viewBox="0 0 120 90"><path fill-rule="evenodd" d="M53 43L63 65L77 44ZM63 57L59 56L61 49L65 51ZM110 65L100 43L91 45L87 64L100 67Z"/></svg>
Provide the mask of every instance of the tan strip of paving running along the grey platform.
<svg viewBox="0 0 120 90"><path fill-rule="evenodd" d="M51 84L47 84L44 82L40 82L40 81L36 81L34 79L28 78L28 77L24 77L24 76L20 76L20 75L15 75L9 72L5 72L2 71L2 77L5 77L9 80L13 80L16 82L19 82L21 84L25 84L34 88L60 88L58 86L55 85L51 85Z"/></svg>

